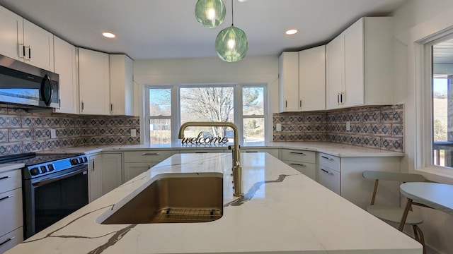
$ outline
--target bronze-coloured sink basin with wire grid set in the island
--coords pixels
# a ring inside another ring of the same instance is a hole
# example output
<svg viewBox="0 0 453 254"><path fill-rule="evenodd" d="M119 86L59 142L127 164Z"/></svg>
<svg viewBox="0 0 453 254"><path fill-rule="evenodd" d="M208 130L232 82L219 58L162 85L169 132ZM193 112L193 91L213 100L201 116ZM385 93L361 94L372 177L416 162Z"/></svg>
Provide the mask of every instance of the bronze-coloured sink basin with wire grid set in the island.
<svg viewBox="0 0 453 254"><path fill-rule="evenodd" d="M101 224L212 222L223 213L223 174L161 175L108 213Z"/></svg>

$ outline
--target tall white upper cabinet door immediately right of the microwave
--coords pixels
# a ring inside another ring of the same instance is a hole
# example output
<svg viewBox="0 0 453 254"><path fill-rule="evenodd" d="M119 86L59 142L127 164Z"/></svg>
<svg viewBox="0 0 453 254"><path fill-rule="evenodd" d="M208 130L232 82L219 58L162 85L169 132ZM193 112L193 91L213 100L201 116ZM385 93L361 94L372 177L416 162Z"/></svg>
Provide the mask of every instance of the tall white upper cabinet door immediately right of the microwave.
<svg viewBox="0 0 453 254"><path fill-rule="evenodd" d="M59 74L58 113L79 114L79 84L76 79L76 47L54 37L55 73Z"/></svg>

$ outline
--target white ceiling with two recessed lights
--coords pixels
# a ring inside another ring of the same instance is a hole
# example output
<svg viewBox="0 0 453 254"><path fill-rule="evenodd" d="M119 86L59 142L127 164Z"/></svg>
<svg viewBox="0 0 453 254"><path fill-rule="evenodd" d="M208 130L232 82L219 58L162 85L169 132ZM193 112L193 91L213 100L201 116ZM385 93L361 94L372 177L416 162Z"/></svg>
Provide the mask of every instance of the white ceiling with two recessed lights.
<svg viewBox="0 0 453 254"><path fill-rule="evenodd" d="M234 0L234 25L248 55L280 54L324 44L361 16L386 16L406 0ZM194 16L197 0L0 0L0 5L78 47L132 59L214 57L217 33L231 25L231 1L219 28ZM297 35L285 30L297 28ZM115 32L105 40L101 31Z"/></svg>

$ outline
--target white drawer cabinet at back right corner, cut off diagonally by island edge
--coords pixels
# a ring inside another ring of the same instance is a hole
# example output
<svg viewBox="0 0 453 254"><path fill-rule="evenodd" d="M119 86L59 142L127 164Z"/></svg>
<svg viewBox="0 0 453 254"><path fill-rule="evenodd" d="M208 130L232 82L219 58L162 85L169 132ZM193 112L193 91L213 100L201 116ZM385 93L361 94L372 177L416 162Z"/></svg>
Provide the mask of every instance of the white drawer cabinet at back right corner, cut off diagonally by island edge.
<svg viewBox="0 0 453 254"><path fill-rule="evenodd" d="M282 162L316 181L316 152L282 149Z"/></svg>

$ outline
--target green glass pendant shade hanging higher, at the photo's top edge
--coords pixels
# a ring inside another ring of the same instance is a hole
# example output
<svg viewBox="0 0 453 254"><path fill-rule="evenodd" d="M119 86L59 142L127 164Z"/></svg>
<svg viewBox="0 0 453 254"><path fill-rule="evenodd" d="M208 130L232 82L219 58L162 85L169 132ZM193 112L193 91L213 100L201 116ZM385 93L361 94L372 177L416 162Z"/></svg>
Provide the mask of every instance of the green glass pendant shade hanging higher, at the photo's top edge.
<svg viewBox="0 0 453 254"><path fill-rule="evenodd" d="M217 28L224 22L226 9L222 0L198 0L195 18L207 28Z"/></svg>

